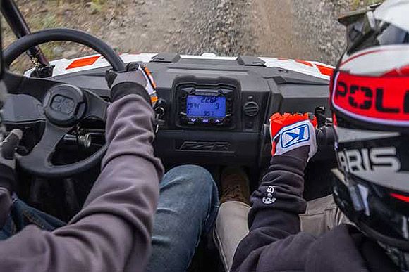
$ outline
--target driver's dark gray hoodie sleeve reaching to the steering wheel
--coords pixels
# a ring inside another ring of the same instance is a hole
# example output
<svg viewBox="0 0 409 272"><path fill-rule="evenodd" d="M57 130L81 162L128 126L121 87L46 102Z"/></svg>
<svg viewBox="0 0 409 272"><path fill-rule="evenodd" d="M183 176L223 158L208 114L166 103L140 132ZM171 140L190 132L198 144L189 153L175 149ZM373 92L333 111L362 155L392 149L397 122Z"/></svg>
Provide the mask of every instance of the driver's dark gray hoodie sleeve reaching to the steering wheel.
<svg viewBox="0 0 409 272"><path fill-rule="evenodd" d="M85 205L53 232L28 226L0 242L1 271L144 271L159 197L151 105L128 95L109 106L108 151Z"/></svg>

